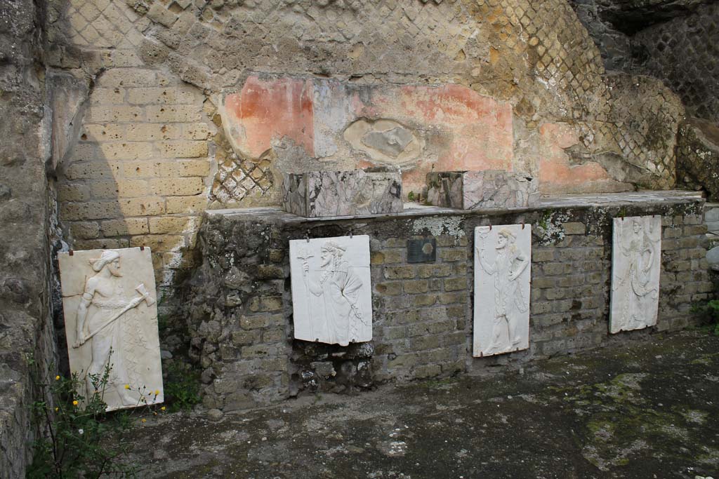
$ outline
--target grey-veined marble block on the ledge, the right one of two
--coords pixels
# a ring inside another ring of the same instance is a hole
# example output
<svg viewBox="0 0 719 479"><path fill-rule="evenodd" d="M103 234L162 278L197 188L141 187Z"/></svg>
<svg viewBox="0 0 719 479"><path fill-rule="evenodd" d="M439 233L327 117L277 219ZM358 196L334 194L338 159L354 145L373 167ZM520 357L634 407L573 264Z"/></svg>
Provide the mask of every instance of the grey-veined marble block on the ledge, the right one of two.
<svg viewBox="0 0 719 479"><path fill-rule="evenodd" d="M427 173L427 201L460 210L535 205L537 182L527 175L488 169L482 172Z"/></svg>

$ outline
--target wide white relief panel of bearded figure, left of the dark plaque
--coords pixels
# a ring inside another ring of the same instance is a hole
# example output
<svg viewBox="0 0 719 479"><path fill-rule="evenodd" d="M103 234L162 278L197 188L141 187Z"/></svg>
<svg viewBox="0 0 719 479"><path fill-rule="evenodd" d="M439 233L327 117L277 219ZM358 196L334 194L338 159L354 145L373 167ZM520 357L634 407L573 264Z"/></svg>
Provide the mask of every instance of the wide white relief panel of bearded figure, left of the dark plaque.
<svg viewBox="0 0 719 479"><path fill-rule="evenodd" d="M296 339L372 340L369 236L292 240L290 271Z"/></svg>

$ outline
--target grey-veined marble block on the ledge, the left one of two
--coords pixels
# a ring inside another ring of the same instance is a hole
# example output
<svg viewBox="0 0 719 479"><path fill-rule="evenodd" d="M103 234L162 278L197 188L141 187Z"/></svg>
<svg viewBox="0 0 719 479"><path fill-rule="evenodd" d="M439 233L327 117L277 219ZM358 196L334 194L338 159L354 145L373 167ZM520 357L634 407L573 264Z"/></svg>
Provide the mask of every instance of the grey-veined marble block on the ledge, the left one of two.
<svg viewBox="0 0 719 479"><path fill-rule="evenodd" d="M403 210L400 172L285 173L282 205L305 218L380 215Z"/></svg>

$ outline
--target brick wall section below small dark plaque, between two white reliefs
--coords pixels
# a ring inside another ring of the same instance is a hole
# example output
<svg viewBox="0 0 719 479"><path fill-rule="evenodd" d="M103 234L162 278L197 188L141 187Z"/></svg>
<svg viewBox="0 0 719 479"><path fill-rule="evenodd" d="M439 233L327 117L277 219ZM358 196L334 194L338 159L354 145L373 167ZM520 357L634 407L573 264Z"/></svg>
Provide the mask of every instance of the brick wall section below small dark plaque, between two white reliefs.
<svg viewBox="0 0 719 479"><path fill-rule="evenodd" d="M407 263L407 239L373 239L375 381L464 370L467 350L467 237L436 236L436 261Z"/></svg>

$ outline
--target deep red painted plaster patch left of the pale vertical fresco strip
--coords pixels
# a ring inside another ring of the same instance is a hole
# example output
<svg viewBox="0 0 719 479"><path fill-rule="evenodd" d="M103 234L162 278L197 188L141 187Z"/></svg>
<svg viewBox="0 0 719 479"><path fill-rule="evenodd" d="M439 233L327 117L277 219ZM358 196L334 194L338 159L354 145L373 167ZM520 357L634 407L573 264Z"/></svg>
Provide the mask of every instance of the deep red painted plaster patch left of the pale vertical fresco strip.
<svg viewBox="0 0 719 479"><path fill-rule="evenodd" d="M224 110L234 146L249 157L260 157L283 136L314 155L311 80L251 76L240 93L225 96Z"/></svg>

